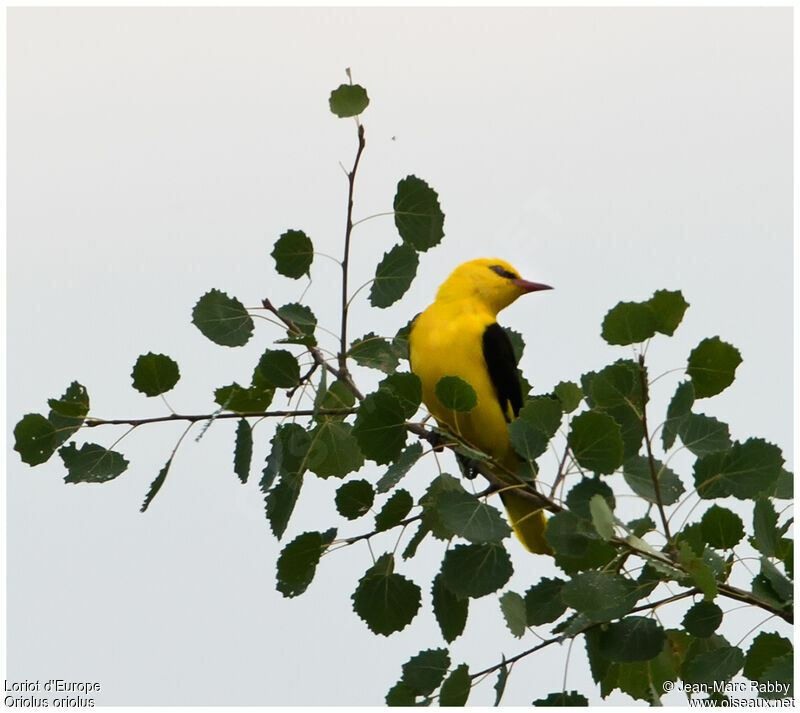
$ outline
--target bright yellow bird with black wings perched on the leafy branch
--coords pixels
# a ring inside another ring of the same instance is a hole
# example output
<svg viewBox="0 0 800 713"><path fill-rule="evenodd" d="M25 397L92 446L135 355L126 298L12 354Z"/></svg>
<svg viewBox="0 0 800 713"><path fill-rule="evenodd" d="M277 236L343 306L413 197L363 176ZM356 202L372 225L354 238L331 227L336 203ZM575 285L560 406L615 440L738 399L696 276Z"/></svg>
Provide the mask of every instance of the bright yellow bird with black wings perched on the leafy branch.
<svg viewBox="0 0 800 713"><path fill-rule="evenodd" d="M522 407L522 389L511 342L497 313L528 292L549 290L528 282L503 260L465 262L439 288L409 334L411 371L422 382L422 400L440 425L515 472L520 461L511 447L508 424ZM478 403L471 411L445 408L436 396L444 376L472 386ZM508 476L505 476L506 479ZM549 554L544 513L513 490L501 492L514 532L523 545Z"/></svg>

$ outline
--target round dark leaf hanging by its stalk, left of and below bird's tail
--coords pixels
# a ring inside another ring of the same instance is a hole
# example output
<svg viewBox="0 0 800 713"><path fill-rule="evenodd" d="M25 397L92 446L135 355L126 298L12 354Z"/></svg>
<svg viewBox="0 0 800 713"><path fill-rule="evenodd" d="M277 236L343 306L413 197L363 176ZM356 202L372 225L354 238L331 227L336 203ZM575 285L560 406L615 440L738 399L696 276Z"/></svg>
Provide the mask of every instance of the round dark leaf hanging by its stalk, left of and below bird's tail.
<svg viewBox="0 0 800 713"><path fill-rule="evenodd" d="M411 623L419 611L420 588L394 572L394 557L385 554L359 580L353 610L375 634L389 636Z"/></svg>

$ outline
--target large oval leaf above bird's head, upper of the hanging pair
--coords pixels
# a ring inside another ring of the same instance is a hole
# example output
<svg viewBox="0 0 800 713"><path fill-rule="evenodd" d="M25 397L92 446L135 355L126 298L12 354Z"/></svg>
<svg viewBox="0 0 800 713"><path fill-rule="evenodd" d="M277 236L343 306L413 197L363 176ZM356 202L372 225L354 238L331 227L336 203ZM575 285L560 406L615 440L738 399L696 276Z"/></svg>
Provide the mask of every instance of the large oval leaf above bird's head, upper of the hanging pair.
<svg viewBox="0 0 800 713"><path fill-rule="evenodd" d="M439 196L425 181L406 176L394 196L394 224L403 242L424 252L444 237L444 213Z"/></svg>

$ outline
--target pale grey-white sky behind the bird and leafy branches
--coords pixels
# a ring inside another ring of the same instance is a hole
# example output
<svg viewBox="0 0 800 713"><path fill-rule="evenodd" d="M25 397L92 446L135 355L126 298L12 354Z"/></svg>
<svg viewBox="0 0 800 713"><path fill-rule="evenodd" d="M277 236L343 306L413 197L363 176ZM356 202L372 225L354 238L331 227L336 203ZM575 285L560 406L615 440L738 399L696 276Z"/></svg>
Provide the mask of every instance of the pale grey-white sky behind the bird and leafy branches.
<svg viewBox="0 0 800 713"><path fill-rule="evenodd" d="M340 255L339 162L351 165L355 130L327 100L345 67L372 99L356 217L390 210L409 173L439 192L446 214L444 241L421 256L401 302L380 311L367 290L356 299L353 338L394 334L458 263L502 257L556 288L501 315L523 332L523 367L546 392L630 356L599 336L616 302L681 289L691 307L673 339L651 343L651 374L684 365L704 337L736 345L744 362L733 387L697 409L734 438L777 443L793 469L791 13L10 9L9 680L96 680L106 705L381 705L403 662L445 645L429 598L443 545L430 539L398 562L422 587L423 609L389 639L351 609L372 562L366 546L324 558L298 599L275 590L283 544L336 522L339 482L309 475L277 543L258 490L269 424L255 431L244 487L232 471L234 422L199 444L187 438L144 515L182 425L127 436L118 448L130 468L105 485L66 486L58 456L31 469L11 451L13 424L46 413L73 379L94 416L165 414L130 386L136 357L151 350L180 364L167 395L179 412L209 412L214 388L249 378L277 330L257 320L246 347L225 349L190 324L191 309L212 287L246 305L298 299L305 281L276 276L269 257L287 228ZM397 240L391 218L357 228L354 287ZM312 277L306 301L336 330L339 268L318 257ZM359 372L364 391L377 376ZM663 414L680 378L657 382L651 413ZM110 445L123 433L86 436ZM690 461L675 462L688 485ZM359 477L382 472L368 464ZM423 460L405 487L421 492L433 472ZM371 525L365 517L340 534ZM507 542L508 588L564 576ZM376 554L393 546L378 542ZM671 611L674 625L685 607ZM736 643L763 618L739 609L723 627ZM472 670L535 643L505 631L496 596L470 602L467 627L450 653ZM763 628L789 631L775 620ZM504 703L559 690L566 657L555 646L523 660ZM470 702L491 705L494 680ZM601 702L582 638L567 689ZM632 701L617 692L605 703Z"/></svg>

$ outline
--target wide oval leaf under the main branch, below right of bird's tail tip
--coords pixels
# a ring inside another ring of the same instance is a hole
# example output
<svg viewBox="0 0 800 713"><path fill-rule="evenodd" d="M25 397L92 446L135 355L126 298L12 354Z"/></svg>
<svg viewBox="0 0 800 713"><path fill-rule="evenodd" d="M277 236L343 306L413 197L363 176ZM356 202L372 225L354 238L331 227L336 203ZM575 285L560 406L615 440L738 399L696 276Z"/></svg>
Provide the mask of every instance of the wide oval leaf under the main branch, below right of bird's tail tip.
<svg viewBox="0 0 800 713"><path fill-rule="evenodd" d="M561 588L564 603L592 621L625 616L636 602L632 580L610 572L581 572Z"/></svg>

